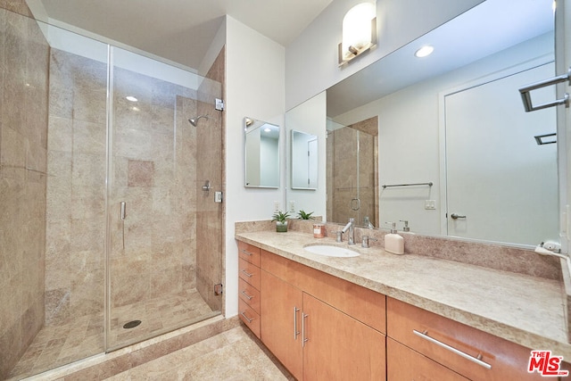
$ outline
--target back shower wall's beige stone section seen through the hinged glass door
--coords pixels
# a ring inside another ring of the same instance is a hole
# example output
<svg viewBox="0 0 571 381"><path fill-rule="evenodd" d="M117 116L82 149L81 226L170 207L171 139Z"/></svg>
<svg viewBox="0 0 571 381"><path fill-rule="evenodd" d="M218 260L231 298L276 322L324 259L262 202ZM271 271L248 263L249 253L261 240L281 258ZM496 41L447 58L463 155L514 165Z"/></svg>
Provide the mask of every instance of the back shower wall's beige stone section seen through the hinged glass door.
<svg viewBox="0 0 571 381"><path fill-rule="evenodd" d="M113 80L112 308L195 288L197 145L195 91L118 68Z"/></svg>

